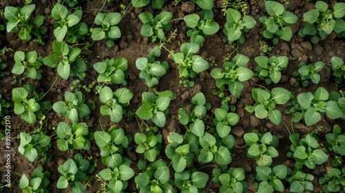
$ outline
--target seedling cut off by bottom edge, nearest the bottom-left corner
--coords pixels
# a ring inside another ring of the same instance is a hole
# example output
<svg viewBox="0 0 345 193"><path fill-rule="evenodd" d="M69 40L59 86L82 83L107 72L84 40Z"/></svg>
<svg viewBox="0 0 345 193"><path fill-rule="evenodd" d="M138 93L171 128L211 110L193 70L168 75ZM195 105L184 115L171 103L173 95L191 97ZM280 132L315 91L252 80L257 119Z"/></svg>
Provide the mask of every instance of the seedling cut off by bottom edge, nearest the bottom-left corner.
<svg viewBox="0 0 345 193"><path fill-rule="evenodd" d="M28 179L26 174L21 176L19 187L23 189L22 192L48 193L49 177L50 173L43 173L43 167L39 166L32 172L31 179Z"/></svg>

